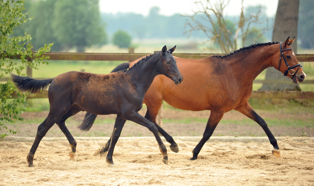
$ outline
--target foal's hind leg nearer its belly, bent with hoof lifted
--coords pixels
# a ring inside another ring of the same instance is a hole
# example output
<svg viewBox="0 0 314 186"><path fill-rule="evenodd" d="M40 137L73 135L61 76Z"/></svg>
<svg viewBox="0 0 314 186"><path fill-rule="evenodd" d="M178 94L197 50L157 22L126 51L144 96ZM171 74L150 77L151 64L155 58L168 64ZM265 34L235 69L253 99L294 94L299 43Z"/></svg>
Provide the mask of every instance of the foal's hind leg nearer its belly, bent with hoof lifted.
<svg viewBox="0 0 314 186"><path fill-rule="evenodd" d="M75 157L75 153L76 153L76 149L77 149L77 142L74 139L74 137L72 136L72 134L70 133L70 131L68 130L68 128L65 126L65 120L67 120L69 117L77 114L79 111L81 111L81 109L78 106L72 106L69 109L69 111L66 114L64 114L61 117L61 119L59 119L58 122L56 122L57 126L60 128L62 133L64 133L64 135L66 136L66 138L68 139L68 141L70 143L71 152L69 153L69 156L71 159L74 159L74 157Z"/></svg>

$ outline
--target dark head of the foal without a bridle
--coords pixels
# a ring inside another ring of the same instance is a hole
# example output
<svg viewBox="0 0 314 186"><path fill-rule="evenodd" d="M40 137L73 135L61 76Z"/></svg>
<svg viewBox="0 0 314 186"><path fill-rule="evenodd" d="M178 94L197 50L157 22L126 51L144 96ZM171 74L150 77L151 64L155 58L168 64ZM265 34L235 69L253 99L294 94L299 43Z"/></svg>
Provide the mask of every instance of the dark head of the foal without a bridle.
<svg viewBox="0 0 314 186"><path fill-rule="evenodd" d="M175 51L175 49L176 46L167 51L167 47L164 46L160 52L160 57L156 68L160 74L170 78L175 82L175 84L181 84L183 82L183 76L179 72L176 59L171 54Z"/></svg>

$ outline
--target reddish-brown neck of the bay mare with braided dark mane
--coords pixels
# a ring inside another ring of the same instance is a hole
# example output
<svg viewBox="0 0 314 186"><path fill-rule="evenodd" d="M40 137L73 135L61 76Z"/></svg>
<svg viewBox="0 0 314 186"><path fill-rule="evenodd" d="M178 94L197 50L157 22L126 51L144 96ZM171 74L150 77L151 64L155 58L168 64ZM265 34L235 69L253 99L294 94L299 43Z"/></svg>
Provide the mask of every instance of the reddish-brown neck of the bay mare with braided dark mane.
<svg viewBox="0 0 314 186"><path fill-rule="evenodd" d="M273 66L272 60L278 52L278 44L245 49L234 57L230 56L230 68L238 75L240 82L251 83L263 70Z"/></svg>

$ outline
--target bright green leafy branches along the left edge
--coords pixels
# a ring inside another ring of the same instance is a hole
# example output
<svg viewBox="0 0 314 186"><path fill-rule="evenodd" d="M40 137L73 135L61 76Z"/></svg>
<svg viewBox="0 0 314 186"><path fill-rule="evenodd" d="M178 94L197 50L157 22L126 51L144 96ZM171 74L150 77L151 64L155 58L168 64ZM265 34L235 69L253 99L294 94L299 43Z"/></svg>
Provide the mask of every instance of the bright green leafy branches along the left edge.
<svg viewBox="0 0 314 186"><path fill-rule="evenodd" d="M16 71L18 75L30 66L37 69L40 64L48 64L43 61L47 57L39 57L41 54L49 52L52 44L38 49L38 52L32 54L32 46L30 43L30 35L10 37L13 28L26 23L30 19L26 19L26 13L23 13L24 0L6 0L0 1L0 78ZM21 62L17 59L11 59L13 56L21 55ZM33 60L27 60L32 58ZM16 91L14 84L9 80L6 83L0 83L0 130L7 129L4 122L14 123L16 120L23 120L20 117L21 111L17 108L18 104L26 104L26 96L23 93L17 93L16 98L12 98L11 94ZM9 130L10 133L16 133ZM3 138L7 134L1 132L0 137Z"/></svg>

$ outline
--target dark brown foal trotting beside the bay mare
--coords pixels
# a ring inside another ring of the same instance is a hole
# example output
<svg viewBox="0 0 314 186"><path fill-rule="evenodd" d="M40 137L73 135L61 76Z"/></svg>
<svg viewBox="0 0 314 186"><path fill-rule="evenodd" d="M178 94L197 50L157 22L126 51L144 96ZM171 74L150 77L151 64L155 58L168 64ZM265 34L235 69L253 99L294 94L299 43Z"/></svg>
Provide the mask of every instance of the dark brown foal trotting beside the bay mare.
<svg viewBox="0 0 314 186"><path fill-rule="evenodd" d="M85 72L67 72L49 80L34 80L12 74L12 81L21 91L36 93L49 84L48 98L50 110L47 118L38 126L34 143L27 155L28 166L33 165L34 154L41 139L56 123L69 140L70 157L74 158L77 142L65 126L65 121L79 111L93 114L117 114L112 142L106 162L113 166L114 146L127 120L148 128L156 137L163 162L168 164L167 149L162 143L154 123L138 113L143 106L145 93L157 75L165 75L175 84L181 84L183 77L178 70L176 60L164 46L155 53L139 60L131 69L110 74L92 74Z"/></svg>

